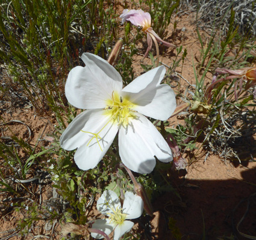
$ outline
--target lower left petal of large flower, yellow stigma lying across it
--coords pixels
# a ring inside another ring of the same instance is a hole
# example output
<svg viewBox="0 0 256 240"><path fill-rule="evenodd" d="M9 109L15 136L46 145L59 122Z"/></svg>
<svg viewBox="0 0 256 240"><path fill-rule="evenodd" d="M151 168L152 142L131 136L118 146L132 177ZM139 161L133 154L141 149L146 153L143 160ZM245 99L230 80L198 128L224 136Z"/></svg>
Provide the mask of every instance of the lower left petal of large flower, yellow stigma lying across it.
<svg viewBox="0 0 256 240"><path fill-rule="evenodd" d="M80 169L95 167L116 136L118 126L112 124L104 112L105 110L99 109L84 111L76 116L60 137L61 148L78 148L74 158ZM98 133L98 138L93 133Z"/></svg>

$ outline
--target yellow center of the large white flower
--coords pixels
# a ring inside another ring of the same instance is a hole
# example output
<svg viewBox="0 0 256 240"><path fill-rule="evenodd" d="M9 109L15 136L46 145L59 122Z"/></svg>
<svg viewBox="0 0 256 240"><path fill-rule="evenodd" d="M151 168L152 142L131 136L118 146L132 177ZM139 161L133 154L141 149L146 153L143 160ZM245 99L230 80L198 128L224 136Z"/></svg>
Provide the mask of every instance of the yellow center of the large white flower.
<svg viewBox="0 0 256 240"><path fill-rule="evenodd" d="M111 99L107 100L105 110L107 110L107 115L111 116L114 123L126 127L129 124L129 119L136 117L134 110L130 109L133 106L134 104L127 97L122 98L117 92L113 91Z"/></svg>

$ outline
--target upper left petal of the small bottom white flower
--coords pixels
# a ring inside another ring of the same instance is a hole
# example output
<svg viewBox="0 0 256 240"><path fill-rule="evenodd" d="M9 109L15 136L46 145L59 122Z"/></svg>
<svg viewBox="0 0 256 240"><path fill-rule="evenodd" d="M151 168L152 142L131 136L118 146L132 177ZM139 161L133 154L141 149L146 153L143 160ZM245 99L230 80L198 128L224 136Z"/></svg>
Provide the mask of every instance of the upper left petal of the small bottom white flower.
<svg viewBox="0 0 256 240"><path fill-rule="evenodd" d="M114 214L116 209L121 208L121 203L116 193L111 190L105 190L97 201L97 209L104 215Z"/></svg>

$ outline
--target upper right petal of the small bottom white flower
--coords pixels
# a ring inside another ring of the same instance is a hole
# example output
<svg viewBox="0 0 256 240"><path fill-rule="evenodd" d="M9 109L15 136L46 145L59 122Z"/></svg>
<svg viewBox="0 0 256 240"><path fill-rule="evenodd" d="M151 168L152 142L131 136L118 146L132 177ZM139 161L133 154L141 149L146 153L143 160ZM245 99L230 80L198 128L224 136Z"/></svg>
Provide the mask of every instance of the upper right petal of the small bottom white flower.
<svg viewBox="0 0 256 240"><path fill-rule="evenodd" d="M143 200L140 196L133 194L131 191L126 191L125 200L123 201L123 214L126 219L138 218L143 213Z"/></svg>

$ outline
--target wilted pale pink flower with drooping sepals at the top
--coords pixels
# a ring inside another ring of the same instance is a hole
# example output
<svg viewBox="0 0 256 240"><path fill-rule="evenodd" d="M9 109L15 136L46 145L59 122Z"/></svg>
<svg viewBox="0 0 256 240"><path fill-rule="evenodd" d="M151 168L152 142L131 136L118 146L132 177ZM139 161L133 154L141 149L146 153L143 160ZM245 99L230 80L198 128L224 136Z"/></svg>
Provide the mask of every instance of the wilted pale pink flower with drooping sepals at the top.
<svg viewBox="0 0 256 240"><path fill-rule="evenodd" d="M123 10L123 13L120 15L122 19L122 23L124 22L131 22L134 26L141 28L143 32L147 34L147 42L148 42L148 49L146 50L143 59L146 58L148 52L152 49L153 41L155 43L155 47L157 50L157 65L159 62L159 49L158 43L162 43L166 47L176 47L174 44L168 43L167 41L162 40L155 31L151 28L151 16L149 13L145 13L143 10Z"/></svg>

